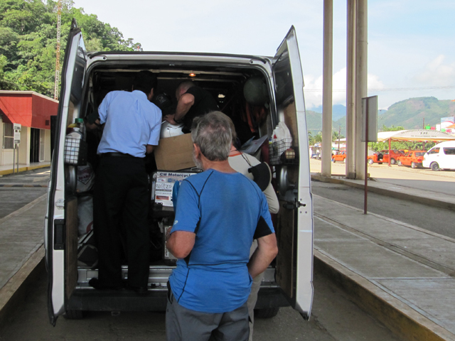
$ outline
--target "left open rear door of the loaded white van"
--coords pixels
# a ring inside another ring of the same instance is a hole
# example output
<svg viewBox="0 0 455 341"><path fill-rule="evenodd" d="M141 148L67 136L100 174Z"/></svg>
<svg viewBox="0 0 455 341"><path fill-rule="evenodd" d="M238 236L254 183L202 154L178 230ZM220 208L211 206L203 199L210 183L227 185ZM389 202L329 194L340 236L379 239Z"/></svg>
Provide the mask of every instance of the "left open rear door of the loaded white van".
<svg viewBox="0 0 455 341"><path fill-rule="evenodd" d="M75 187L76 167L65 166L63 161L67 126L80 113L86 63L82 33L73 19L62 70L44 226L48 314L52 325L58 315L65 313L65 302L77 283L77 198L70 195L70 188Z"/></svg>

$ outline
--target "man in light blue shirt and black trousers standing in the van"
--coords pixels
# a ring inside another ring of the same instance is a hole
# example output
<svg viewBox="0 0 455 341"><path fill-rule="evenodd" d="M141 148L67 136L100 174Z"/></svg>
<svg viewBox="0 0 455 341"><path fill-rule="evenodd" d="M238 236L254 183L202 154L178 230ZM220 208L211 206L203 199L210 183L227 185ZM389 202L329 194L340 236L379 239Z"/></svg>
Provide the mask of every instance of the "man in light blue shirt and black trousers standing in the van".
<svg viewBox="0 0 455 341"><path fill-rule="evenodd" d="M138 72L132 92L109 92L98 108L99 118L87 122L89 128L105 124L97 150L100 164L93 202L98 278L89 281L97 289L123 287L123 234L127 285L139 294L147 292L149 196L144 158L158 145L161 129L161 110L150 102L155 87L156 76L149 71Z"/></svg>

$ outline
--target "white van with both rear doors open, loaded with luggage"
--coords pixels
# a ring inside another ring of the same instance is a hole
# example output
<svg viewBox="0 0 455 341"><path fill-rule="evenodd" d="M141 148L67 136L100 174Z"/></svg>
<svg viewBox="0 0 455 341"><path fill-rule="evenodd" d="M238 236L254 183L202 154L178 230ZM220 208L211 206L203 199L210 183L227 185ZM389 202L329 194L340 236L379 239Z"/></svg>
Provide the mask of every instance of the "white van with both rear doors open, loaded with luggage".
<svg viewBox="0 0 455 341"><path fill-rule="evenodd" d="M68 126L75 119L84 119L97 110L107 92L131 89L134 74L140 70L156 73L158 91L168 94L174 94L181 81L196 78L198 85L213 94L220 109L230 117L245 109L242 92L245 82L250 77L262 77L269 102L262 108L262 119L257 121L256 137L271 137L274 127L284 121L293 138L291 146L295 158L292 162L279 157L269 161L281 206L275 227L279 254L266 271L256 308L259 313L262 312L259 315L272 316L276 315L280 306L291 305L308 319L313 299L313 205L304 84L294 27L291 27L273 58L142 51L87 54L80 28L73 21L65 50L45 216L50 323L55 325L59 315L82 318L84 310L166 309L166 282L175 261L165 259L165 256L151 261L148 293L145 296L137 296L127 290L97 291L88 285L90 278L97 277L97 268L96 265L81 265L77 259L80 243L75 190L77 166L70 166L64 161ZM234 119L234 122L238 123L239 119ZM89 137L88 134L83 136L87 143L87 158L96 158L96 144ZM154 213L151 210L151 228L155 224L162 226L165 220L173 221L172 210ZM154 230L159 237L161 233L159 229ZM154 244L159 248L159 242L155 240ZM159 249L156 249L155 255L159 254ZM164 252L161 254L164 255ZM122 272L127 276L126 265Z"/></svg>

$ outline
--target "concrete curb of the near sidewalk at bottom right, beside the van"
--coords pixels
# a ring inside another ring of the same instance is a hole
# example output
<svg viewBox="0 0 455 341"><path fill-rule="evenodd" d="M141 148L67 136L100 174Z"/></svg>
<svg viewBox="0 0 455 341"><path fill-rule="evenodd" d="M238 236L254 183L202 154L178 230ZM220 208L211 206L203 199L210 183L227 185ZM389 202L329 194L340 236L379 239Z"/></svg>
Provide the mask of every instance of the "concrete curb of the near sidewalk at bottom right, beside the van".
<svg viewBox="0 0 455 341"><path fill-rule="evenodd" d="M330 278L398 337L410 341L455 341L454 334L317 249L314 269Z"/></svg>

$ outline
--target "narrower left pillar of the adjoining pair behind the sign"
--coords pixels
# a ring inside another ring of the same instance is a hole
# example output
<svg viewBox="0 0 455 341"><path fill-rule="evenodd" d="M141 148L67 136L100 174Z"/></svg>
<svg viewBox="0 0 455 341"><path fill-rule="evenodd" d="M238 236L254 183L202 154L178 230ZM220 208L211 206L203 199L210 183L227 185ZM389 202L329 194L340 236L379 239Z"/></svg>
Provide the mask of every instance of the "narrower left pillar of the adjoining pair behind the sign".
<svg viewBox="0 0 455 341"><path fill-rule="evenodd" d="M348 0L346 56L346 178L355 179L355 26L357 0Z"/></svg>

